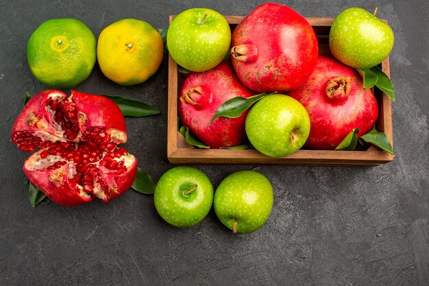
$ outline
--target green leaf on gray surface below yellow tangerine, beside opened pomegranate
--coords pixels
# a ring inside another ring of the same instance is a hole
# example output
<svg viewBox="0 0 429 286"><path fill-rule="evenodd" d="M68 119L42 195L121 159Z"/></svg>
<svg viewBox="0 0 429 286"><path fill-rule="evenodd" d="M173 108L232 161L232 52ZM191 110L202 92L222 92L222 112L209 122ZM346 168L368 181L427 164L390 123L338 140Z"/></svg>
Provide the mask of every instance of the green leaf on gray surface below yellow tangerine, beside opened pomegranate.
<svg viewBox="0 0 429 286"><path fill-rule="evenodd" d="M101 95L103 97L107 97L112 99L114 103L116 103L124 116L132 116L132 117L142 117L149 115L157 115L160 113L160 110L149 106L149 104L145 104L144 102L140 102L135 99L128 99L125 97L121 97L118 95Z"/></svg>

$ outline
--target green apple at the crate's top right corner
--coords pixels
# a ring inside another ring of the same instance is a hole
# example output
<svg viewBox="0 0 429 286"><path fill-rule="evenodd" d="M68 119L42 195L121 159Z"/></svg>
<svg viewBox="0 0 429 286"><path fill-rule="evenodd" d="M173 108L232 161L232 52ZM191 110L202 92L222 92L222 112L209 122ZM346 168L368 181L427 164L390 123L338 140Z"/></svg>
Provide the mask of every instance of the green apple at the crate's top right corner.
<svg viewBox="0 0 429 286"><path fill-rule="evenodd" d="M336 16L329 33L332 55L355 69L380 64L393 48L393 31L367 10L349 8Z"/></svg>

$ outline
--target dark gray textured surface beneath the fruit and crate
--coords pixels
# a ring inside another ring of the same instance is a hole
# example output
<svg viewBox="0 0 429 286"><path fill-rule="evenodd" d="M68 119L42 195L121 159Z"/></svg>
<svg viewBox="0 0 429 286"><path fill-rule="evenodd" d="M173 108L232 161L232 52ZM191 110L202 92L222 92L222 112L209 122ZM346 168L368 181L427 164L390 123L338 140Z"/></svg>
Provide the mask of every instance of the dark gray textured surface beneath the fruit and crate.
<svg viewBox="0 0 429 286"><path fill-rule="evenodd" d="M154 4L155 3L155 4ZM32 208L10 141L23 95L46 89L34 79L26 44L52 18L80 19L98 36L110 23L142 19L167 27L169 14L205 6L247 14L262 1L0 1L0 285L429 285L429 4L421 1L281 1L304 16L336 16L358 6L387 19L395 33L391 76L393 162L372 168L261 166L275 201L267 224L232 235L210 211L174 228L151 195L128 191L109 204ZM127 118L127 150L154 180L167 161L167 53L156 75L122 87L96 66L75 88L153 104L162 114ZM198 165L214 187L249 165Z"/></svg>

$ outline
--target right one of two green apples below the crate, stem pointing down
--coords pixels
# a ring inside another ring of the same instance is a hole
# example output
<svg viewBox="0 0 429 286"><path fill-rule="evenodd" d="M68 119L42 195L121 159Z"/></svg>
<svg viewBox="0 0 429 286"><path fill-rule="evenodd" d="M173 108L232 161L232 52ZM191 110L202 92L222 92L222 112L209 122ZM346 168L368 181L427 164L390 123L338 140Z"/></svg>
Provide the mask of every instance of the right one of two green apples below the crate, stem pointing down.
<svg viewBox="0 0 429 286"><path fill-rule="evenodd" d="M273 187L256 171L237 171L222 180L213 206L233 233L251 233L267 222L273 208Z"/></svg>

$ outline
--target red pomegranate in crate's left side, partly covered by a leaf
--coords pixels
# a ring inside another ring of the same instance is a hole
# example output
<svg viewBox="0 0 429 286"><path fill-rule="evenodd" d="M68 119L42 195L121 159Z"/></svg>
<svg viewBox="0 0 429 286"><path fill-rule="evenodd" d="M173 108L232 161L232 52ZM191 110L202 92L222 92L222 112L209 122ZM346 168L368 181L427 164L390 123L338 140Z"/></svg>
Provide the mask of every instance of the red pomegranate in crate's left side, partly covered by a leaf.
<svg viewBox="0 0 429 286"><path fill-rule="evenodd" d="M179 116L195 136L211 148L240 145L245 139L247 112L237 118L210 120L219 106L232 97L254 95L236 78L230 62L202 73L189 73L179 98Z"/></svg>

